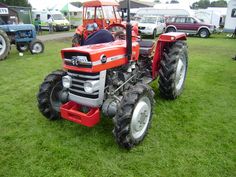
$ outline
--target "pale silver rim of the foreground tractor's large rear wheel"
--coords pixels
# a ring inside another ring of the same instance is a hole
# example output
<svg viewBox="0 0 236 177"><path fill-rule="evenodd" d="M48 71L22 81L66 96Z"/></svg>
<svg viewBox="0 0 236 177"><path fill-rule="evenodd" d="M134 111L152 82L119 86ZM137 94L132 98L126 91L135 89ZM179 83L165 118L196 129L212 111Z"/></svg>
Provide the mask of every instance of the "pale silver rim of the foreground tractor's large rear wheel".
<svg viewBox="0 0 236 177"><path fill-rule="evenodd" d="M175 76L175 86L177 91L179 91L183 86L185 74L186 74L186 58L184 56L181 56L178 61L176 76Z"/></svg>

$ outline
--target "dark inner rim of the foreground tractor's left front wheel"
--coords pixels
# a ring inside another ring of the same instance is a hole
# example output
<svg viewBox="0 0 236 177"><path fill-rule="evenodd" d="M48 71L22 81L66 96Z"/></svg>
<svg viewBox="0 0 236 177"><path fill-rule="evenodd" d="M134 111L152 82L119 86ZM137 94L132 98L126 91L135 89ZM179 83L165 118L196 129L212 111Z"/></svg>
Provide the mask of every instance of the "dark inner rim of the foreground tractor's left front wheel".
<svg viewBox="0 0 236 177"><path fill-rule="evenodd" d="M50 94L50 103L52 108L57 112L60 112L60 107L62 105L61 102L61 94L62 94L63 86L61 82L58 82L52 89Z"/></svg>

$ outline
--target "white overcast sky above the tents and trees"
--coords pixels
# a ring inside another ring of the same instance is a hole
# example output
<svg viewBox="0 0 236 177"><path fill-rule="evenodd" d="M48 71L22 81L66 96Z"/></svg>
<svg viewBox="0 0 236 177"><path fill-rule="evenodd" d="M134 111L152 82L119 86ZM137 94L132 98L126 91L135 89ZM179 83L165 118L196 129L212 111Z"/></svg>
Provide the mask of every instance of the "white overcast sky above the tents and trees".
<svg viewBox="0 0 236 177"><path fill-rule="evenodd" d="M28 0L33 8L41 9L41 8L47 8L47 7L53 7L55 5L63 6L70 0ZM153 1L153 0L142 0L142 1ZM166 0L161 0L163 2L166 2ZM179 2L191 5L193 2L197 0L179 0Z"/></svg>

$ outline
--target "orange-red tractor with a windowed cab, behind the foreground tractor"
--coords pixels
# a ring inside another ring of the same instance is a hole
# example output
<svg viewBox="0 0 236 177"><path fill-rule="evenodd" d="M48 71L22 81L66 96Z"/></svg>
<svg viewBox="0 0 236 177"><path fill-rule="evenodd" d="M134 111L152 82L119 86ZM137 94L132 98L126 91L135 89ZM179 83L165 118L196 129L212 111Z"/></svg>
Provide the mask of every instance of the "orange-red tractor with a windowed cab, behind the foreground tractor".
<svg viewBox="0 0 236 177"><path fill-rule="evenodd" d="M100 29L107 29L114 24L121 24L117 13L118 3L114 0L90 0L83 3L83 24L78 26L72 40L72 46L83 45L84 41Z"/></svg>

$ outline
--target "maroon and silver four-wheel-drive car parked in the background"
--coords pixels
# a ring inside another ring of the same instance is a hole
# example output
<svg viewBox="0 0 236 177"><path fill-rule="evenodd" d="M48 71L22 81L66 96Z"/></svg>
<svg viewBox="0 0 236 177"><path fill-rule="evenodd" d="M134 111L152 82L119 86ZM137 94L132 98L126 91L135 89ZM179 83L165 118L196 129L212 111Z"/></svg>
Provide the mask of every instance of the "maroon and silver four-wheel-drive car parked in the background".
<svg viewBox="0 0 236 177"><path fill-rule="evenodd" d="M169 17L166 19L166 32L185 32L191 35L199 35L201 38L209 37L216 27L203 23L195 17Z"/></svg>

